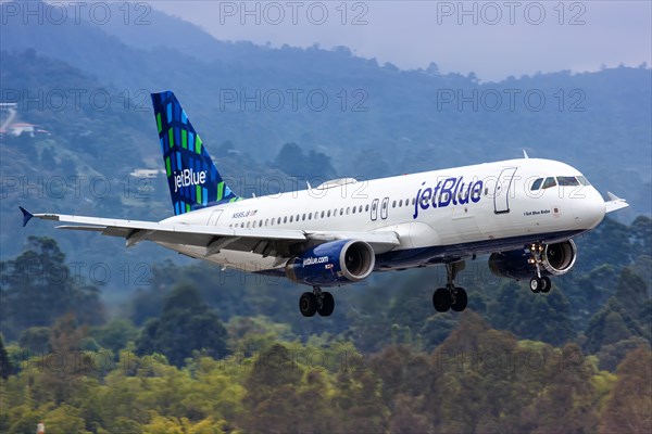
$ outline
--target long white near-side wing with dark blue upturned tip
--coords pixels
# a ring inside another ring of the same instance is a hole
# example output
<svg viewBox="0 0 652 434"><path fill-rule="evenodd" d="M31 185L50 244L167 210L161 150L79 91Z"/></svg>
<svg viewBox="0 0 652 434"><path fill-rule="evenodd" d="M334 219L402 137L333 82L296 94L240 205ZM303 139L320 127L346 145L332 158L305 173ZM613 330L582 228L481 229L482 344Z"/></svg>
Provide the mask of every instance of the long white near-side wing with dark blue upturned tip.
<svg viewBox="0 0 652 434"><path fill-rule="evenodd" d="M206 256L222 248L254 252L264 256L279 253L287 256L291 244L316 241L328 242L342 239L354 239L369 243L376 253L387 252L399 245L396 232L337 232L303 231L298 229L269 228L220 228L204 225L161 224L154 221L123 220L113 218L72 216L63 214L32 214L21 207L23 226L33 218L62 221L74 225L58 226L58 229L101 232L103 235L120 237L131 246L140 241L156 243L195 245L206 248Z"/></svg>

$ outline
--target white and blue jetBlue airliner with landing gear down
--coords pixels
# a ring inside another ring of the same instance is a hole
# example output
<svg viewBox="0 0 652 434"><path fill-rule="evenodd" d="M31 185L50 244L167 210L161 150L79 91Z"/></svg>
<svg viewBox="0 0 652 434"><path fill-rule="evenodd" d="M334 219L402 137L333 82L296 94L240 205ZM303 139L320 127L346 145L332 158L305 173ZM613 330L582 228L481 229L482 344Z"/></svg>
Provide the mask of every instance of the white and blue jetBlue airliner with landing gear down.
<svg viewBox="0 0 652 434"><path fill-rule="evenodd" d="M534 293L577 258L573 238L606 213L627 207L604 201L567 164L524 157L369 181L334 179L306 190L238 196L224 181L172 91L152 93L174 216L138 221L21 207L23 227L37 217L60 229L151 241L184 255L312 286L299 299L305 317L333 314L324 288L366 279L373 271L444 265L447 283L434 292L436 311L463 311L467 294L455 285L465 260L489 254L500 277L530 279Z"/></svg>

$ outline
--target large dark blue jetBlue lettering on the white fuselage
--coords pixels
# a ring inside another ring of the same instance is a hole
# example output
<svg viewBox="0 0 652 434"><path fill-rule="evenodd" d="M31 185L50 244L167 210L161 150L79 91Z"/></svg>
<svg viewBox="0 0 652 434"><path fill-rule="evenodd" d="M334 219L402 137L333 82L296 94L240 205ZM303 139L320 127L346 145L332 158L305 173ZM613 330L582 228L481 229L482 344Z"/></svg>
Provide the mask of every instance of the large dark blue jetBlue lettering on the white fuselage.
<svg viewBox="0 0 652 434"><path fill-rule="evenodd" d="M464 182L464 177L447 178L437 182L435 187L422 188L416 192L414 200L413 219L418 217L418 209L443 208L453 205L465 205L469 201L478 203L482 195L482 181Z"/></svg>

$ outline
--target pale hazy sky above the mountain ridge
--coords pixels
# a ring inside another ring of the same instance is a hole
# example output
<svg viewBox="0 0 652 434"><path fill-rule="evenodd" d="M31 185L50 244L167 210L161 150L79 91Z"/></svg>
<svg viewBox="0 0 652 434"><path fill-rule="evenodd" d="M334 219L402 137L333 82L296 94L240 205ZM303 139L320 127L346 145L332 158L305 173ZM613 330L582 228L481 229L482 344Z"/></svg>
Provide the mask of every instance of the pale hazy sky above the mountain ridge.
<svg viewBox="0 0 652 434"><path fill-rule="evenodd" d="M323 48L482 80L602 64L649 65L644 1L155 1L218 39Z"/></svg>

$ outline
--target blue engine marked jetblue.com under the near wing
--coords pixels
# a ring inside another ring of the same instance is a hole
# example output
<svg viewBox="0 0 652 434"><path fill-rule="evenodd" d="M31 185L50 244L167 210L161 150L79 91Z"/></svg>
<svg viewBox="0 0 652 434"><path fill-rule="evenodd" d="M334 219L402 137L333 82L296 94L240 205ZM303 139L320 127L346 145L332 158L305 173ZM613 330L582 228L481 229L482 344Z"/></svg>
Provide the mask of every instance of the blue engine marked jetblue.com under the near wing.
<svg viewBox="0 0 652 434"><path fill-rule="evenodd" d="M359 282L369 276L376 255L364 241L339 240L319 244L286 264L290 280L310 285L334 286Z"/></svg>

